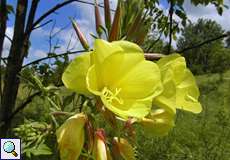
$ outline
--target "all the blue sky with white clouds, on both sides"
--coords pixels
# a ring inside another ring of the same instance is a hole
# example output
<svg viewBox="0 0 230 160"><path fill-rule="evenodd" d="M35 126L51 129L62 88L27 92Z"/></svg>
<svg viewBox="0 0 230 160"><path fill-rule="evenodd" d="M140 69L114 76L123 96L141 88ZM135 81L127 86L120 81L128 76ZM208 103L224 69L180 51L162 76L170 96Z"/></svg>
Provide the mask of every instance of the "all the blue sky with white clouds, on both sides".
<svg viewBox="0 0 230 160"><path fill-rule="evenodd" d="M29 5L32 0L29 0ZM88 2L94 2L94 0L85 0ZM44 12L52 8L57 3L63 2L63 0L40 0L39 7L36 13L36 19L40 17ZM103 2L103 0L99 0L99 3ZM117 0L110 0L111 8L116 8ZM8 0L8 3L13 5L14 8L16 6L16 0ZM162 8L166 7L167 0L160 1L160 6ZM230 0L225 0L225 4L230 6ZM219 16L216 13L215 7L209 5L207 7L198 6L194 7L191 5L189 0L185 1L184 8L187 12L188 17L192 21L196 21L198 18L211 18L216 20L218 23L222 25L222 27L226 30L230 30L230 21L227 20L230 17L230 12L225 11L224 16ZM101 9L101 15L103 15L103 9ZM55 46L57 43L60 48L56 49L56 53L62 53L66 50L78 50L82 49L81 45L78 42L78 39L75 35L72 26L70 25L69 17L75 17L82 31L85 33L86 38L89 43L92 45L93 38L90 36L90 33L95 33L95 21L94 21L94 7L82 4L79 2L74 2L70 5L59 9L55 14L50 15L44 21L53 20L52 23L35 30L31 35L31 47L29 51L28 58L24 61L24 63L28 63L29 61L39 59L45 57L49 51L49 34L52 26L55 22L55 27L53 29L53 34L60 31L61 28L65 27L59 34L57 34L52 39L52 46ZM14 15L11 14L8 21L7 35L13 35L13 23L14 23ZM71 38L72 37L72 38ZM70 41L71 39L71 41ZM67 48L68 44L69 47ZM176 43L174 42L174 45ZM7 56L9 50L10 42L8 40L5 41L4 44L4 55Z"/></svg>

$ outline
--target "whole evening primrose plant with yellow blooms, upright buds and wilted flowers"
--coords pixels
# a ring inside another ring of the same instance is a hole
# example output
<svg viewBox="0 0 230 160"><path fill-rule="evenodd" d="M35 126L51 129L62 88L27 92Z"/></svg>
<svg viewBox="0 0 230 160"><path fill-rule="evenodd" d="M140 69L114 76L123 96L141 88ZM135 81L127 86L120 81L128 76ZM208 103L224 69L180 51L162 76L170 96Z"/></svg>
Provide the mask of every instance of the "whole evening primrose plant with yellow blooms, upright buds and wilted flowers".
<svg viewBox="0 0 230 160"><path fill-rule="evenodd" d="M185 59L171 54L154 62L146 60L138 36L134 38L137 44L127 41L128 35L120 34L121 1L113 23L108 2L105 0L106 28L95 3L98 37L94 35L92 49L78 24L71 20L86 51L67 66L62 81L87 101L81 104L80 112L76 111L57 129L61 160L134 160L135 126L140 126L147 137L165 136L175 126L178 109L193 113L202 110L199 90ZM135 5L140 1L132 2ZM103 31L108 40L100 38ZM100 117L103 125L98 122ZM113 133L107 132L107 124Z"/></svg>

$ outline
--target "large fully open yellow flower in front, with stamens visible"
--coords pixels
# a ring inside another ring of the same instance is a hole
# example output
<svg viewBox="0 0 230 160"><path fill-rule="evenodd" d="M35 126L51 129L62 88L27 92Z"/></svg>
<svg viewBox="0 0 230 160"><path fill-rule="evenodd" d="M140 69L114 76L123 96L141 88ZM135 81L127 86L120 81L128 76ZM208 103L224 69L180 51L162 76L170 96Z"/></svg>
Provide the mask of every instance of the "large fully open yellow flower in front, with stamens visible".
<svg viewBox="0 0 230 160"><path fill-rule="evenodd" d="M97 39L88 54L69 65L62 77L65 86L99 96L107 109L124 119L146 116L152 98L162 92L158 66L146 61L142 49L128 41Z"/></svg>

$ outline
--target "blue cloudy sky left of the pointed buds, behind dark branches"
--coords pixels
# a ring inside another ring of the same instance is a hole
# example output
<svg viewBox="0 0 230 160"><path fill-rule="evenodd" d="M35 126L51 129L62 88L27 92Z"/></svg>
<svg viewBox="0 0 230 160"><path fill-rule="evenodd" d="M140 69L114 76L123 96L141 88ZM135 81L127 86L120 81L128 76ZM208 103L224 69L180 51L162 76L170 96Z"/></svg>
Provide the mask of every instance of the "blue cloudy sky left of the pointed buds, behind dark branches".
<svg viewBox="0 0 230 160"><path fill-rule="evenodd" d="M32 0L29 0L29 6L31 5L31 1ZM60 3L62 1L63 0L40 0L35 19L39 18L44 12L46 12L47 10L55 6L57 3ZM8 0L8 3L13 5L15 8L17 1ZM61 28L65 27L65 29L62 32L60 32L60 34L57 34L57 36L55 36L52 39L52 43L53 43L52 45L55 45L58 42L59 46L62 47L61 49L59 49L60 50L59 52L60 53L63 52L65 46L62 46L62 45L66 45L67 39L70 39L71 35L74 34L74 31L70 25L69 17L75 17L77 21L80 22L80 25L84 25L84 23L86 23L84 22L85 12L84 13L81 12L82 8L88 8L89 10L93 9L93 7L88 6L86 4L74 2L70 5L63 7L62 9L59 9L55 14L52 14L49 17L47 17L43 21L43 23L48 20L53 20L53 21L49 23L48 25L32 32L32 35L31 35L32 46L30 48L30 55L26 59L26 62L37 59L37 58L44 57L45 54L49 51L49 34L50 34L51 28L54 25L54 23L55 23L55 28L53 30L53 34L55 34L55 32L58 32ZM12 36L13 34L14 16L15 16L14 14L11 14L9 16L9 21L7 23L9 36ZM92 32L94 32L93 28L92 28ZM72 39L76 41L77 37L73 35ZM71 48L72 47L73 46L71 46ZM7 49L9 49L9 47ZM79 46L79 49L80 49L80 46ZM7 54L7 51L5 52L5 55L6 54Z"/></svg>

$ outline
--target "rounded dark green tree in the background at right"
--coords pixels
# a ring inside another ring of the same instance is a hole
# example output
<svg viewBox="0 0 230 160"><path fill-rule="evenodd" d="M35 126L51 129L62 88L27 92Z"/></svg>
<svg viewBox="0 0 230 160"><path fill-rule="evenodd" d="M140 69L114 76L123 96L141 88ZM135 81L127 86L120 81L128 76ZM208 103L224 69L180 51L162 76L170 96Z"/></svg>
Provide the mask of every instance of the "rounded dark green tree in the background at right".
<svg viewBox="0 0 230 160"><path fill-rule="evenodd" d="M177 42L178 50L201 43L224 34L219 24L212 20L199 19L196 24L189 24L182 31ZM224 43L221 39L204 44L199 48L184 51L183 56L188 67L195 73L216 72L215 65L220 65L216 57L222 56Z"/></svg>

